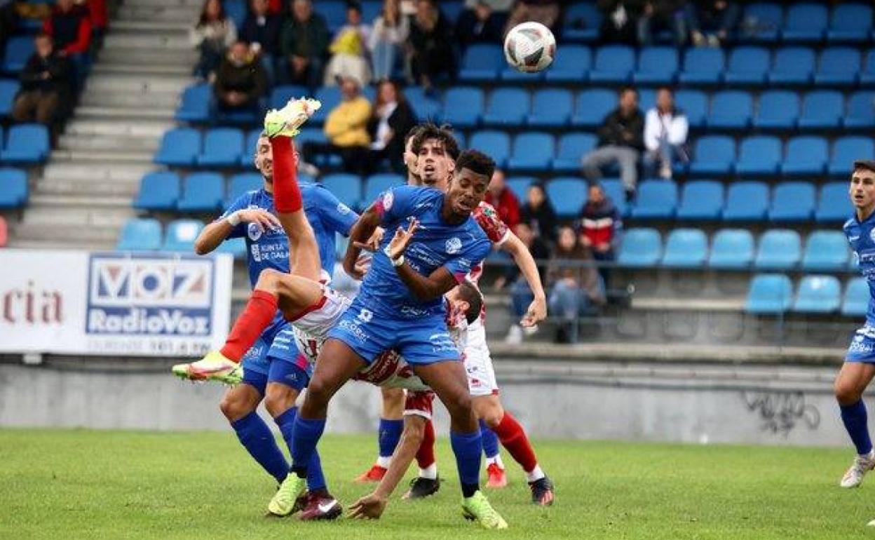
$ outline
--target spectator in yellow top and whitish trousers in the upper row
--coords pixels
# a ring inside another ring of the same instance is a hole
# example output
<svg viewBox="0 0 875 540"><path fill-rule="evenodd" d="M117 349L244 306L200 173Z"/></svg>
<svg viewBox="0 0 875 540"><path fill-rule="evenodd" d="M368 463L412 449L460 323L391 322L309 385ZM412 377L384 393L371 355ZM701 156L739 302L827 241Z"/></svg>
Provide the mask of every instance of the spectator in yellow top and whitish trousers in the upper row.
<svg viewBox="0 0 875 540"><path fill-rule="evenodd" d="M357 4L346 7L346 25L337 31L328 51L332 53L325 67L325 86L333 86L339 75L354 75L361 84L371 83L371 66L367 61L367 41L371 26L361 23L361 8Z"/></svg>

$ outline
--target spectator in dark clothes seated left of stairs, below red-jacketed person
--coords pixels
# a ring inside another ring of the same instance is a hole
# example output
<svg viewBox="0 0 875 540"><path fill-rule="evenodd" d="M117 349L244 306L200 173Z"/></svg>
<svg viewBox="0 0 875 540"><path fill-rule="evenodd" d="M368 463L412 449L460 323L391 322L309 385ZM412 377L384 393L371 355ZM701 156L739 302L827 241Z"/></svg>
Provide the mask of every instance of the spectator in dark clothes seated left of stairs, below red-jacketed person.
<svg viewBox="0 0 875 540"><path fill-rule="evenodd" d="M16 122L36 121L51 126L58 119L61 105L70 97L71 62L55 51L47 34L38 33L33 40L36 51L19 74L21 92L15 98L12 118Z"/></svg>

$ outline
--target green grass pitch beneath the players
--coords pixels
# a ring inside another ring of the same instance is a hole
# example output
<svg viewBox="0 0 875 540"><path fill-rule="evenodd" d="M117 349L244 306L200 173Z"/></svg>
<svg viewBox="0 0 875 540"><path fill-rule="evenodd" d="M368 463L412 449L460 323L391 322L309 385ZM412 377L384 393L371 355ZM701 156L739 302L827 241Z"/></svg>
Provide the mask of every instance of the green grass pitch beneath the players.
<svg viewBox="0 0 875 540"><path fill-rule="evenodd" d="M262 517L273 482L230 433L0 430L0 536L8 538L875 538L875 477L837 487L848 450L607 442L536 444L556 504L528 502L521 473L487 492L510 529L459 515L447 481L425 501L396 498L382 519L302 523ZM348 505L367 487L373 437L325 437L332 492ZM505 460L510 461L507 454ZM399 488L400 496L402 490Z"/></svg>

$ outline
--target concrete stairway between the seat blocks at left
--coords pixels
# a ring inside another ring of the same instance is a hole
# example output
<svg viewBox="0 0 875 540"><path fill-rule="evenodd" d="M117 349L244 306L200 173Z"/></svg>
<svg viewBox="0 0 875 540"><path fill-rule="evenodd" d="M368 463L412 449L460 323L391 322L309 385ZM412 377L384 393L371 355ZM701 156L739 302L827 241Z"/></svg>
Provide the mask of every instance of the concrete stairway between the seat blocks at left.
<svg viewBox="0 0 875 540"><path fill-rule="evenodd" d="M112 249L161 135L174 125L198 54L188 27L200 0L125 0L80 105L31 184L11 246Z"/></svg>

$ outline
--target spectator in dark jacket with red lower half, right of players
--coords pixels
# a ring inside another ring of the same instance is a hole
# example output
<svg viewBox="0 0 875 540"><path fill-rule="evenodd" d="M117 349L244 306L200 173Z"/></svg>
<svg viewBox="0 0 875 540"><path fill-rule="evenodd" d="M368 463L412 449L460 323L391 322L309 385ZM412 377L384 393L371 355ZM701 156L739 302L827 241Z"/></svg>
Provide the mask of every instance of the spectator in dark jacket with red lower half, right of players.
<svg viewBox="0 0 875 540"><path fill-rule="evenodd" d="M620 242L623 221L613 201L598 184L591 184L586 202L580 211L580 244L591 250L598 263L598 273L607 287L610 283L610 268L604 263L613 263L616 247Z"/></svg>

